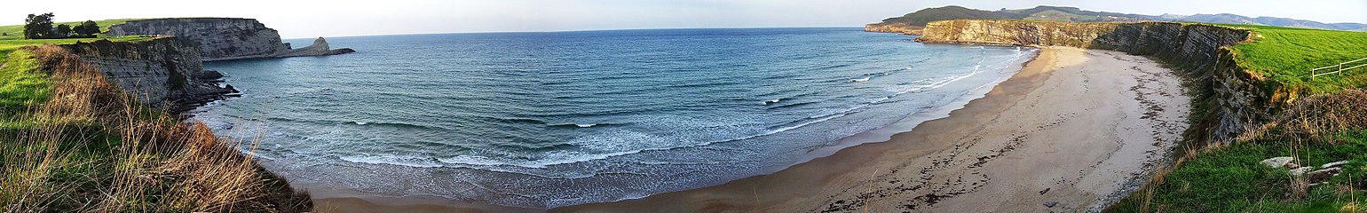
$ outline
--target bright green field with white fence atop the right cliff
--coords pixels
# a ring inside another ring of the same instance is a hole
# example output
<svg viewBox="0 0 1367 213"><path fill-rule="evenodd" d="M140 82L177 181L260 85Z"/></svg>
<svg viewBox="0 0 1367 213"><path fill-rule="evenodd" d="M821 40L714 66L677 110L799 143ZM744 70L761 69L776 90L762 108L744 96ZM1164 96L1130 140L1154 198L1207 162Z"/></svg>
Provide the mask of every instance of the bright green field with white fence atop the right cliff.
<svg viewBox="0 0 1367 213"><path fill-rule="evenodd" d="M1367 68L1311 79L1311 70L1367 57L1367 33L1312 30L1254 25L1222 25L1249 29L1260 37L1234 45L1236 61L1286 86L1305 86L1311 93L1367 86ZM1355 63L1363 64L1363 63Z"/></svg>

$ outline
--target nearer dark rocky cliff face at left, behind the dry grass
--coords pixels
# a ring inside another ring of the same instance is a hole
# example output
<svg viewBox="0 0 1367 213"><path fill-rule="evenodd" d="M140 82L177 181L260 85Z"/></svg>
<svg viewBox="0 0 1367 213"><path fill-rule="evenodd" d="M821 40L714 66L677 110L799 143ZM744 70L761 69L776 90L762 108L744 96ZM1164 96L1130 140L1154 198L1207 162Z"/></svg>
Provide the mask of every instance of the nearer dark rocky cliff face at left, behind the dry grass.
<svg viewBox="0 0 1367 213"><path fill-rule="evenodd" d="M205 71L200 51L176 38L137 42L77 42L60 45L100 68L109 82L148 106L185 112L236 93L220 87L217 71Z"/></svg>

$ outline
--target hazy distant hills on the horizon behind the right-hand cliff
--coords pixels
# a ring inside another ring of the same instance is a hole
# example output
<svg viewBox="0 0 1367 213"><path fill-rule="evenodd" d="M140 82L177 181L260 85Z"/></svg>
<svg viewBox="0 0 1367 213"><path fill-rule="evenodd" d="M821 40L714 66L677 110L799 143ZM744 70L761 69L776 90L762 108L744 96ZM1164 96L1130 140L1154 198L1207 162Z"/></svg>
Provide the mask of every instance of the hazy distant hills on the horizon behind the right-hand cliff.
<svg viewBox="0 0 1367 213"><path fill-rule="evenodd" d="M902 29L920 29L920 26L925 26L925 23L928 22L950 20L950 19L1027 19L1027 20L1059 20L1059 22L1169 20L1169 22L1240 23L1240 25L1266 25L1266 26L1284 26L1284 27L1367 31L1367 25L1363 23L1322 23L1315 20L1274 18L1274 16L1249 18L1234 14L1139 15L1139 14L1120 14L1120 12L1096 12L1096 11L1080 10L1076 7L1051 7L1051 5L1039 5L1035 8L1025 8L1025 10L1002 8L998 11L973 10L958 5L924 8L902 16L883 19L883 22L879 23L869 23L868 26L865 26L865 29L869 31L915 34L916 31L908 31Z"/></svg>

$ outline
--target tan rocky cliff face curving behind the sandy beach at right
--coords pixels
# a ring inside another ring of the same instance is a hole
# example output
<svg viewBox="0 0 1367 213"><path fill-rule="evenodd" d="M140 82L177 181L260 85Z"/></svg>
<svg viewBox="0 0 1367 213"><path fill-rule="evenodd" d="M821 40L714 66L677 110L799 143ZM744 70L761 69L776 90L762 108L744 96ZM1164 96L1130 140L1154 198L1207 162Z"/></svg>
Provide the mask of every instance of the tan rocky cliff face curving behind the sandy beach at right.
<svg viewBox="0 0 1367 213"><path fill-rule="evenodd" d="M1223 141L1269 117L1280 100L1258 75L1239 67L1229 46L1251 41L1251 31L1211 25L1140 22L1072 23L1031 20L940 20L925 26L921 42L973 42L1028 46L1077 46L1146 55L1184 70L1193 89L1208 96L1214 115L1204 128Z"/></svg>

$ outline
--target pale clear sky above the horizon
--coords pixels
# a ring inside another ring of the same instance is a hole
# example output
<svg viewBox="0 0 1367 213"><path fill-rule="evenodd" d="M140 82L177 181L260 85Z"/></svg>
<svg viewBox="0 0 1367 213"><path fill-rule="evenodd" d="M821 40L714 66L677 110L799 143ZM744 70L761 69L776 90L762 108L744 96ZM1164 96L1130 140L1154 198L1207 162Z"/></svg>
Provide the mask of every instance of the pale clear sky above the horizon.
<svg viewBox="0 0 1367 213"><path fill-rule="evenodd" d="M478 31L863 26L921 8L1068 5L1124 14L1237 14L1367 23L1367 0L60 0L10 1L0 26L27 14L57 22L116 18L254 18L284 38Z"/></svg>

